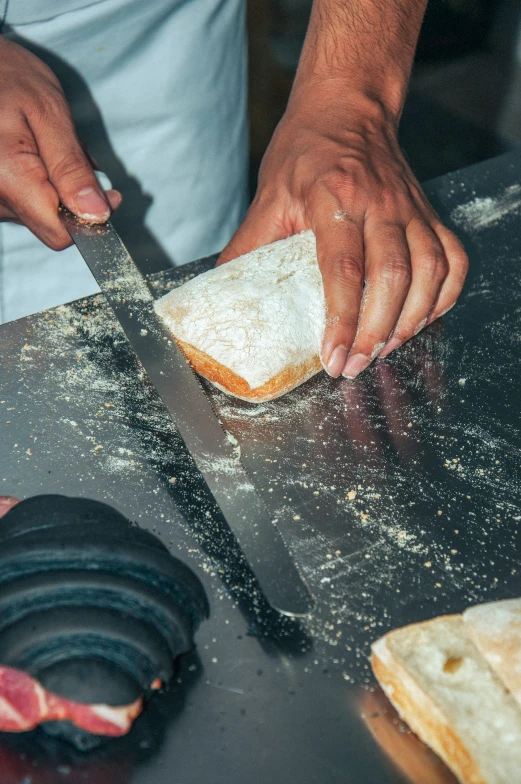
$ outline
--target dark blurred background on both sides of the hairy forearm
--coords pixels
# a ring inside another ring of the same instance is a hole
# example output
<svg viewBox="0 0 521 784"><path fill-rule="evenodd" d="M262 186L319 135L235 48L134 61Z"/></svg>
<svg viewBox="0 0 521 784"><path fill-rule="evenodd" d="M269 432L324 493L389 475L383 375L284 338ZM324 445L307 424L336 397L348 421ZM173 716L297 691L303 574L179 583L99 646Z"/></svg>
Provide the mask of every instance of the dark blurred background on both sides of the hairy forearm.
<svg viewBox="0 0 521 784"><path fill-rule="evenodd" d="M248 0L252 192L311 5ZM520 0L430 0L400 139L420 181L521 144Z"/></svg>

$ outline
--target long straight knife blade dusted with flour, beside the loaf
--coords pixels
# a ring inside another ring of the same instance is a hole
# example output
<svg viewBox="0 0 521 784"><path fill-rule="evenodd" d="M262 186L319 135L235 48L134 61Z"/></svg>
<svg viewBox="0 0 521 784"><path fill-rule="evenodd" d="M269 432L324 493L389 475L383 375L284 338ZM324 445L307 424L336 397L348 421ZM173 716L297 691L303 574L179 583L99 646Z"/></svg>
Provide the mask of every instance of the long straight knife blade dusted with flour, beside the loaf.
<svg viewBox="0 0 521 784"><path fill-rule="evenodd" d="M314 599L194 371L154 311L154 298L119 235L110 222L86 224L66 210L60 214L174 420L268 603L285 615L306 615ZM233 466L233 471L223 471L223 465Z"/></svg>

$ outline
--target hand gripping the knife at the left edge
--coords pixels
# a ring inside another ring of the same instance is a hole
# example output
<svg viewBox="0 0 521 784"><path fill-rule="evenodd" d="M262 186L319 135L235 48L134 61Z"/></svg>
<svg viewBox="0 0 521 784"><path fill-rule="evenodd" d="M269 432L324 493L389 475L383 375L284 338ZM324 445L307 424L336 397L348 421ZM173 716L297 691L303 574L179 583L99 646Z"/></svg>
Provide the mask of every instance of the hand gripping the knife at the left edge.
<svg viewBox="0 0 521 784"><path fill-rule="evenodd" d="M104 193L82 148L57 78L35 55L0 36L0 221L25 224L54 250L71 244L60 202L106 221L119 206Z"/></svg>

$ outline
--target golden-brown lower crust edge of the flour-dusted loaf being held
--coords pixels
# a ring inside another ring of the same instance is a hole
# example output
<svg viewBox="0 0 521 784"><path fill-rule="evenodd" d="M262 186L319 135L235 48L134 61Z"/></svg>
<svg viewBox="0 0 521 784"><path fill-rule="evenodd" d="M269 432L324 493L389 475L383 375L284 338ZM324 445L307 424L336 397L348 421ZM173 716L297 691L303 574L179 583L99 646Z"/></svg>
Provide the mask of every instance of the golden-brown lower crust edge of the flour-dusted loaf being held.
<svg viewBox="0 0 521 784"><path fill-rule="evenodd" d="M322 363L317 355L307 362L285 367L283 371L270 378L265 384L252 389L241 376L217 362L204 351L200 351L182 340L176 339L176 342L196 373L207 378L223 392L253 403L265 403L268 400L281 397L322 370Z"/></svg>

